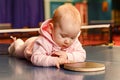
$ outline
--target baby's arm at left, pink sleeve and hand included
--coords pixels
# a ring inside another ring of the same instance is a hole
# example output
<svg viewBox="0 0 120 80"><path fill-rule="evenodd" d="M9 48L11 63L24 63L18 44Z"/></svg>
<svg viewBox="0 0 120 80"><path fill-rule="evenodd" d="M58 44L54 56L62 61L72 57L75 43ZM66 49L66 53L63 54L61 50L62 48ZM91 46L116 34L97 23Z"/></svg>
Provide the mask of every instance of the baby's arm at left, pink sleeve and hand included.
<svg viewBox="0 0 120 80"><path fill-rule="evenodd" d="M47 53L45 47L40 44L35 44L33 48L33 54L31 56L31 62L37 66L56 66L60 68L60 65L65 63L66 59L53 56L53 53Z"/></svg>

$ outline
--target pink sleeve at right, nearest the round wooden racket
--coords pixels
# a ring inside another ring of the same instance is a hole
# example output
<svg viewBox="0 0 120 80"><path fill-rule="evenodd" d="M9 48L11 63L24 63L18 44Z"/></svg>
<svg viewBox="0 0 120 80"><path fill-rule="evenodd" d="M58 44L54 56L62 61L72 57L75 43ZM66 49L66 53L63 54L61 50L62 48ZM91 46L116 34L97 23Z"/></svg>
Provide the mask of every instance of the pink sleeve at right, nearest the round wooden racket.
<svg viewBox="0 0 120 80"><path fill-rule="evenodd" d="M84 62L86 60L86 51L78 40L71 46L71 52L68 52L67 55L70 61Z"/></svg>

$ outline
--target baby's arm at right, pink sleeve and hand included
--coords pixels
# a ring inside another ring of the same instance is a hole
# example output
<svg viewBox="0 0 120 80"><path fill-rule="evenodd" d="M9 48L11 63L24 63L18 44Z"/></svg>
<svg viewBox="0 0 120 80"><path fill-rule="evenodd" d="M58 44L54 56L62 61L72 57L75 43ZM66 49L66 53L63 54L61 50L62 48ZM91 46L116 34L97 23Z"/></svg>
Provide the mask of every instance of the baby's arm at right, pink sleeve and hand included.
<svg viewBox="0 0 120 80"><path fill-rule="evenodd" d="M84 62L86 59L86 52L78 40L74 42L69 51L56 51L54 55L66 59L66 63Z"/></svg>

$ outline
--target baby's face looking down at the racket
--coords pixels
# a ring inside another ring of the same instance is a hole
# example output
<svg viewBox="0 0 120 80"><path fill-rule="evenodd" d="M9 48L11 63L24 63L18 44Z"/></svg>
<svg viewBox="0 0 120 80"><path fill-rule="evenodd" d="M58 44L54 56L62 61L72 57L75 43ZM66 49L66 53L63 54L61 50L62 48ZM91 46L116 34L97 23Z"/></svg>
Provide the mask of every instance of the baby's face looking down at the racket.
<svg viewBox="0 0 120 80"><path fill-rule="evenodd" d="M80 32L80 26L72 25L70 22L63 23L54 25L52 38L62 49L65 49L75 41Z"/></svg>

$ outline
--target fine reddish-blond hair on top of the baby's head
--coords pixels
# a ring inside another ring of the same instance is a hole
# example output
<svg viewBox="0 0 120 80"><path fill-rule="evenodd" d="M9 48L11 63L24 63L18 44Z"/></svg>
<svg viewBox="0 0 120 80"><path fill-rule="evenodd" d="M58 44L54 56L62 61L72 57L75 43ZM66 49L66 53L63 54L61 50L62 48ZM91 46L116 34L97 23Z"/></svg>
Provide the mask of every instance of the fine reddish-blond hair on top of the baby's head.
<svg viewBox="0 0 120 80"><path fill-rule="evenodd" d="M54 23L63 20L64 17L69 16L73 22L81 25L81 17L79 11L70 3L65 3L59 6L53 14L53 21Z"/></svg>

